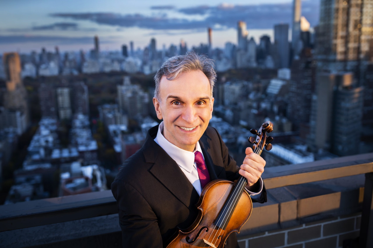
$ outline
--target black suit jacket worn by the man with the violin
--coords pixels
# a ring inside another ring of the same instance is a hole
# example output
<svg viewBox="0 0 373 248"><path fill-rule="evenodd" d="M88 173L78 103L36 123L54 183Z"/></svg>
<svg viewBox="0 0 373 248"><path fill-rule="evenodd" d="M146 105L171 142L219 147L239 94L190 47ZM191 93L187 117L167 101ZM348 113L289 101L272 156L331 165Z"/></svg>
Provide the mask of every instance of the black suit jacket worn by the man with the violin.
<svg viewBox="0 0 373 248"><path fill-rule="evenodd" d="M166 247L178 230L197 218L199 196L176 162L154 141L151 128L142 148L128 158L111 185L119 209L123 248ZM236 180L239 167L216 129L208 127L200 139L211 180ZM267 201L263 186L261 198ZM253 199L253 202L255 200ZM236 235L225 247L238 247Z"/></svg>

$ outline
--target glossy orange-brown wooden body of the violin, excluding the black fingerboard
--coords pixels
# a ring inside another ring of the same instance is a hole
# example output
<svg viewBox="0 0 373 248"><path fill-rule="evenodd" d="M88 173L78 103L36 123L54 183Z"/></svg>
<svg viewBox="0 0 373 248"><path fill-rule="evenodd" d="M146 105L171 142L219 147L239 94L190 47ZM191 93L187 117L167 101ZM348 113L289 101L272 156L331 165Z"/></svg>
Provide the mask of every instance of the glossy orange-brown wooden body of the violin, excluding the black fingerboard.
<svg viewBox="0 0 373 248"><path fill-rule="evenodd" d="M228 180L214 180L204 187L196 204L200 212L195 222L185 230L179 230L167 248L213 247L223 248L232 232L240 231L253 209L253 202L247 191L241 194L232 217L224 229L214 224L224 207L235 183Z"/></svg>

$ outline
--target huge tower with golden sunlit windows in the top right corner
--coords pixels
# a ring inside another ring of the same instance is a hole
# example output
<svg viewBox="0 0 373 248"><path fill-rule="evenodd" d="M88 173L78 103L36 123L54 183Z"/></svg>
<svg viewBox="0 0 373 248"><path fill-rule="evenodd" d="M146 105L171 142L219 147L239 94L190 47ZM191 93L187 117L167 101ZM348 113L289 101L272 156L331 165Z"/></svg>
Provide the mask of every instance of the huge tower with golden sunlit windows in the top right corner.
<svg viewBox="0 0 373 248"><path fill-rule="evenodd" d="M318 60L333 69L353 69L359 59L373 61L373 1L323 0L317 33Z"/></svg>

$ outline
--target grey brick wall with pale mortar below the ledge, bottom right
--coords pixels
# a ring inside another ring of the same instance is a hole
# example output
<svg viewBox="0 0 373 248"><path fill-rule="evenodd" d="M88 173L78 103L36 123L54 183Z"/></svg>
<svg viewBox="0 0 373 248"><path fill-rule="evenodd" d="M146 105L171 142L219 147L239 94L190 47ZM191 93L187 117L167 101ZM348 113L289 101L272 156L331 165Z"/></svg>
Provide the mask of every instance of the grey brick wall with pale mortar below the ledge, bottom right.
<svg viewBox="0 0 373 248"><path fill-rule="evenodd" d="M249 236L239 236L240 248L339 248L357 238L361 213L305 223Z"/></svg>

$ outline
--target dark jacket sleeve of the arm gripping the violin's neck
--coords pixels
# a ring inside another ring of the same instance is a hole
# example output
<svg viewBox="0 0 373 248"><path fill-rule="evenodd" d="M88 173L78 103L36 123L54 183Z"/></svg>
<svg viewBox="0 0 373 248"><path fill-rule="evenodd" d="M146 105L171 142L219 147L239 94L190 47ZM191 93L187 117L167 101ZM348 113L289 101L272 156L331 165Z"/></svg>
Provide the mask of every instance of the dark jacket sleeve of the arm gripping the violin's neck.
<svg viewBox="0 0 373 248"><path fill-rule="evenodd" d="M239 167L237 165L237 162L232 158L231 155L229 155L228 147L225 145L219 132L216 129L215 131L217 133L217 136L219 137L220 147L222 149L222 158L223 158L223 164L225 168L226 177L228 180L231 180L231 181L237 180L239 177L239 174L238 174ZM260 184L260 181L258 180L256 183ZM252 197L251 200L253 202L258 202L258 203L267 202L267 192L266 192L266 187L264 186L264 182L263 182L263 189L261 193L259 193L256 197Z"/></svg>

